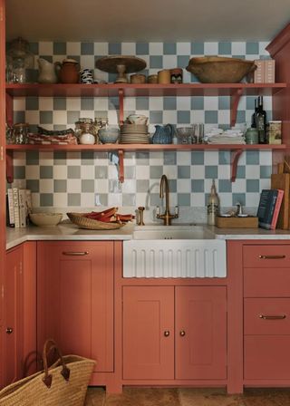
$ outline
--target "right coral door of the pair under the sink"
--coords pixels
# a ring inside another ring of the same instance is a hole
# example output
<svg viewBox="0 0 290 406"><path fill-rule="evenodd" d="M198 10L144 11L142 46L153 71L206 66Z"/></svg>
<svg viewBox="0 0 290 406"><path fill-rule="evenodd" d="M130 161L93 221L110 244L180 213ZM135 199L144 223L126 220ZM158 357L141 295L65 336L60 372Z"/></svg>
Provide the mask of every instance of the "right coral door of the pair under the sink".
<svg viewBox="0 0 290 406"><path fill-rule="evenodd" d="M176 378L227 378L227 290L176 287Z"/></svg>

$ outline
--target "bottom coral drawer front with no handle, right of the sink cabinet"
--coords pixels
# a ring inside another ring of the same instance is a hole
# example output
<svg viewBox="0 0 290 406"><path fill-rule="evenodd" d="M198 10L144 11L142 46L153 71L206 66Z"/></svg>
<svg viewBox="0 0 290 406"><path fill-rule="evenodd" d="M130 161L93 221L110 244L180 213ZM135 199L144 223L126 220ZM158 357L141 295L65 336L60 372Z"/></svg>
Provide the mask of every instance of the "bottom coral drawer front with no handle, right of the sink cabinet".
<svg viewBox="0 0 290 406"><path fill-rule="evenodd" d="M245 379L290 379L290 335L247 335L244 348Z"/></svg>

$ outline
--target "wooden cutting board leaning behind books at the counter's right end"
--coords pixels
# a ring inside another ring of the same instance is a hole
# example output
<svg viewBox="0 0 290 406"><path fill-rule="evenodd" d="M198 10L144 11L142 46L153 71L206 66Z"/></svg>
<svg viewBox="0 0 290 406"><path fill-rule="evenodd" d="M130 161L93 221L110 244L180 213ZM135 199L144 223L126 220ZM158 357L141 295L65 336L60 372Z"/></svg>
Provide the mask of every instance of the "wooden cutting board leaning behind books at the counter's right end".
<svg viewBox="0 0 290 406"><path fill-rule="evenodd" d="M280 208L280 213L277 221L277 228L287 230L290 226L289 222L290 173L278 173L275 175L271 175L271 189L284 190L284 198Z"/></svg>

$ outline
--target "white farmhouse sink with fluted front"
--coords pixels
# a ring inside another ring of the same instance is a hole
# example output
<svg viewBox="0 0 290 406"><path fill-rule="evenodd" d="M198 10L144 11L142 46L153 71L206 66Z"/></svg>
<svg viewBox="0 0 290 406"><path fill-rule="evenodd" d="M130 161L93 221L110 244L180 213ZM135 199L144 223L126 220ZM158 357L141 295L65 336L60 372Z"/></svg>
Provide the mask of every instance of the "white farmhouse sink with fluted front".
<svg viewBox="0 0 290 406"><path fill-rule="evenodd" d="M123 277L226 276L226 241L207 227L136 227L123 241Z"/></svg>

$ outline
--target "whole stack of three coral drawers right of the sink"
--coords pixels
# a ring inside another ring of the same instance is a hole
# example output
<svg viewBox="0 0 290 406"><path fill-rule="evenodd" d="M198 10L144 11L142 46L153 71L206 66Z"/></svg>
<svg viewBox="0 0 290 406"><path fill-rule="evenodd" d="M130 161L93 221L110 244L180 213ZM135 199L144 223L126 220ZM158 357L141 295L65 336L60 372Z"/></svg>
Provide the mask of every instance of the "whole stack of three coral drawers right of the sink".
<svg viewBox="0 0 290 406"><path fill-rule="evenodd" d="M247 384L290 380L289 249L286 244L243 247Z"/></svg>

